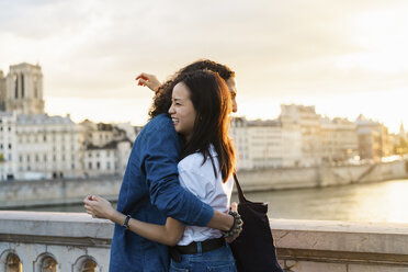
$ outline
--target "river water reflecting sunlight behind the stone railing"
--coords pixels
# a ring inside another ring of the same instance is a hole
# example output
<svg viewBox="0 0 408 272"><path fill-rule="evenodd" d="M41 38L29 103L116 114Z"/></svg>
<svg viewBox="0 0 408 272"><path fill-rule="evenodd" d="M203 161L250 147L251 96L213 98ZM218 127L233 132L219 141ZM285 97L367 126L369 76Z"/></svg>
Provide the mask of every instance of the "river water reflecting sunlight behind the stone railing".
<svg viewBox="0 0 408 272"><path fill-rule="evenodd" d="M257 192L248 193L247 199L269 202L272 218L408 223L408 180ZM25 209L83 212L82 205Z"/></svg>

